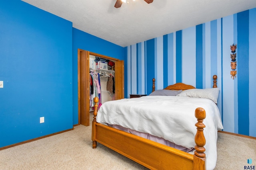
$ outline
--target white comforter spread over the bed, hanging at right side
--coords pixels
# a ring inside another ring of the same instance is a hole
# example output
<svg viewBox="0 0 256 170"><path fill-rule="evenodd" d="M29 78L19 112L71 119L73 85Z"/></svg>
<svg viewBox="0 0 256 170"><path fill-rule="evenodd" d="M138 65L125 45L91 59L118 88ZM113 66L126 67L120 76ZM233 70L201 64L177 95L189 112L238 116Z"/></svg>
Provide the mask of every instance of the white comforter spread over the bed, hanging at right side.
<svg viewBox="0 0 256 170"><path fill-rule="evenodd" d="M120 125L136 131L162 137L177 145L192 148L196 144L195 109L206 111L206 168L214 169L217 160L217 131L223 129L220 112L214 102L203 98L177 96L144 96L105 102L96 121Z"/></svg>

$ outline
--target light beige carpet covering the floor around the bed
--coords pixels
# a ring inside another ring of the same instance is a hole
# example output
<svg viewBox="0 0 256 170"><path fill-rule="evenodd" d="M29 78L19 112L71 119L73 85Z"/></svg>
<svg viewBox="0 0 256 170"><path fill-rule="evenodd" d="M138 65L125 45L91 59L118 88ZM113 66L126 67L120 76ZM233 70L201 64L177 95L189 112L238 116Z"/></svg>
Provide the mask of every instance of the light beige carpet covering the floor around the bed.
<svg viewBox="0 0 256 170"><path fill-rule="evenodd" d="M92 119L91 119L92 120ZM92 127L76 126L38 141L0 150L0 170L146 170L144 166L98 144L92 149ZM256 140L218 134L216 170L256 165Z"/></svg>

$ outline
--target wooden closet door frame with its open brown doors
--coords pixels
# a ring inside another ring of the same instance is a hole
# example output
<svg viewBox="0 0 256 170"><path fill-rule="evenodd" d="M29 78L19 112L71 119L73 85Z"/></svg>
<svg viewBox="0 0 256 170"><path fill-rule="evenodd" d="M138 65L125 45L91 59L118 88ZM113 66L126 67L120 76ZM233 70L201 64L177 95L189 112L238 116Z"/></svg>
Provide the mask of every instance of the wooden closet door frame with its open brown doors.
<svg viewBox="0 0 256 170"><path fill-rule="evenodd" d="M124 98L124 61L78 49L78 125L90 125L90 55L115 63L115 98Z"/></svg>

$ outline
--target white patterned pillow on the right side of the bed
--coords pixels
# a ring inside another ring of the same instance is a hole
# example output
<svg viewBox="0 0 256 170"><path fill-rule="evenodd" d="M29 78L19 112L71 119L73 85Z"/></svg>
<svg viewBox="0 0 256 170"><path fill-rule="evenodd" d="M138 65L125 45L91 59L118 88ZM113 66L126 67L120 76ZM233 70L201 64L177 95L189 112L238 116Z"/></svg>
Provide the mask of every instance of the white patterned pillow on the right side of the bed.
<svg viewBox="0 0 256 170"><path fill-rule="evenodd" d="M217 104L218 96L219 96L219 88L205 88L205 89L188 89L184 90L177 96L181 97L191 97L191 98L206 98L212 100Z"/></svg>

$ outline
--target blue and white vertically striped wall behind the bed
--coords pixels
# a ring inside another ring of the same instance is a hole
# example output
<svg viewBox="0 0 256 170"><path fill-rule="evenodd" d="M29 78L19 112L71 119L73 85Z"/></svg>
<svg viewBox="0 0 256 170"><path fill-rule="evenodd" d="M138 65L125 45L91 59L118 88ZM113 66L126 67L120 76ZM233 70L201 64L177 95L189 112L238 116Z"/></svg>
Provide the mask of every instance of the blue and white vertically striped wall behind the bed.
<svg viewBox="0 0 256 170"><path fill-rule="evenodd" d="M211 88L218 76L224 131L256 137L256 8L127 47L127 94L183 82ZM230 45L237 44L233 80Z"/></svg>

